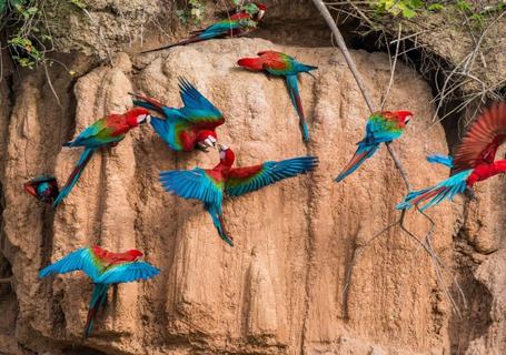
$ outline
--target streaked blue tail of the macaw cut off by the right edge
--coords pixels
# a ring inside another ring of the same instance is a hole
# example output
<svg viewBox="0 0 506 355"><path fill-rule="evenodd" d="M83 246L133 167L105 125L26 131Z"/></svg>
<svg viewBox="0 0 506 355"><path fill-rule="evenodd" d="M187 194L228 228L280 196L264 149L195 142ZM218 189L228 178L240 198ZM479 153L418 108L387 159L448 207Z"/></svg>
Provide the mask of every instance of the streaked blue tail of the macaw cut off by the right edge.
<svg viewBox="0 0 506 355"><path fill-rule="evenodd" d="M414 205L430 200L424 206L420 207L420 211L425 211L430 206L439 204L441 201L447 199L454 199L457 193L463 193L467 187L467 178L473 173L473 170L465 170L455 174L437 185L419 191L414 191L408 193L401 203L399 203L397 210L409 210Z"/></svg>

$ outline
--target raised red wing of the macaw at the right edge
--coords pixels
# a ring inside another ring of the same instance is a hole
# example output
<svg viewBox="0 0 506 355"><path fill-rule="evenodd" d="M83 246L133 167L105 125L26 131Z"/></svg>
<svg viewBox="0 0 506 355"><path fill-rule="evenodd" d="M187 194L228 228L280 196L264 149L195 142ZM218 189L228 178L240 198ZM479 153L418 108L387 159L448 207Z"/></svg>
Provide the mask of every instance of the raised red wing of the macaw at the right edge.
<svg viewBox="0 0 506 355"><path fill-rule="evenodd" d="M483 113L455 153L458 171L494 162L497 148L506 139L506 103L497 103Z"/></svg>

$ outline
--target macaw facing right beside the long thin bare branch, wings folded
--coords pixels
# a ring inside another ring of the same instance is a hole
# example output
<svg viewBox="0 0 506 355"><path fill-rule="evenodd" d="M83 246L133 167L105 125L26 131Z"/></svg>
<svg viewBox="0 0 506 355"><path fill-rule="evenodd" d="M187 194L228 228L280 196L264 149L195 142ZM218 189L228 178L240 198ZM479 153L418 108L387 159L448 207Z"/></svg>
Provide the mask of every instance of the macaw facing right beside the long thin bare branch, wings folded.
<svg viewBox="0 0 506 355"><path fill-rule="evenodd" d="M357 143L358 148L349 163L336 178L341 182L358 169L367 159L374 155L380 143L389 143L398 139L413 113L409 111L381 111L373 113L367 120L366 136Z"/></svg>

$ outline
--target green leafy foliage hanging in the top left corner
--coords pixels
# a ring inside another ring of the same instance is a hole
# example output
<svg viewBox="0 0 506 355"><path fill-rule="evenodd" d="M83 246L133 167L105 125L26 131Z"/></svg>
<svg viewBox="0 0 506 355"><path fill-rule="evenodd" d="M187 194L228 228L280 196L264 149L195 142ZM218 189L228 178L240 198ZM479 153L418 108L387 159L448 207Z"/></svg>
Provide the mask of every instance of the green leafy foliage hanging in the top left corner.
<svg viewBox="0 0 506 355"><path fill-rule="evenodd" d="M66 0L85 9L82 0ZM0 30L7 34L8 50L21 68L34 69L52 62L46 54L53 49L43 0L0 0Z"/></svg>

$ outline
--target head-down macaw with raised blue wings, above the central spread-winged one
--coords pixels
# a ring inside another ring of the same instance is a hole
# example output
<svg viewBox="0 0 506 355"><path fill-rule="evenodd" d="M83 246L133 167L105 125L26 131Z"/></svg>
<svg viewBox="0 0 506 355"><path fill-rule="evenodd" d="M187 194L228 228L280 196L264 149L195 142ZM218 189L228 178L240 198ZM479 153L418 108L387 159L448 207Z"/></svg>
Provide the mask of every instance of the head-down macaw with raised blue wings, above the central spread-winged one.
<svg viewBox="0 0 506 355"><path fill-rule="evenodd" d="M133 104L156 111L165 116L151 116L151 125L173 151L208 151L217 142L216 128L225 123L221 112L212 105L192 84L179 79L179 93L185 106L168 108L159 101L132 94Z"/></svg>

